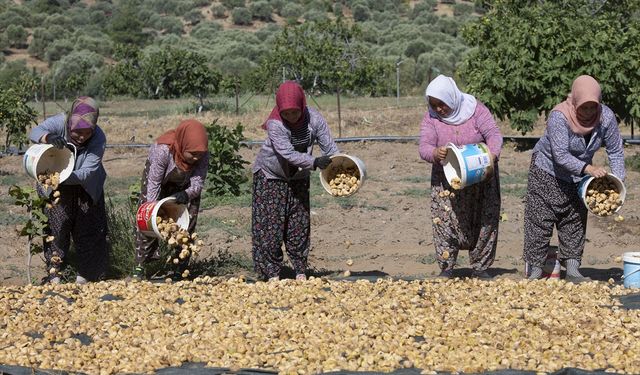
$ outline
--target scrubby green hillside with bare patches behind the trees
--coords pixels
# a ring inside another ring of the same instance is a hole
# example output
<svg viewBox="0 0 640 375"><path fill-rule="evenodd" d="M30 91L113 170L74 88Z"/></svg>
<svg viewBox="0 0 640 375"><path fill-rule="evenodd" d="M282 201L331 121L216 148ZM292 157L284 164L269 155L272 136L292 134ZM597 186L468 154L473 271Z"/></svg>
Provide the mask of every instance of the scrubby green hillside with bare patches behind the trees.
<svg viewBox="0 0 640 375"><path fill-rule="evenodd" d="M401 86L417 92L430 73L453 74L467 51L460 26L478 11L460 0L0 0L0 78L35 70L50 81L76 64L99 81L121 44L196 51L223 75L244 74L287 25L342 17L373 56L403 61Z"/></svg>

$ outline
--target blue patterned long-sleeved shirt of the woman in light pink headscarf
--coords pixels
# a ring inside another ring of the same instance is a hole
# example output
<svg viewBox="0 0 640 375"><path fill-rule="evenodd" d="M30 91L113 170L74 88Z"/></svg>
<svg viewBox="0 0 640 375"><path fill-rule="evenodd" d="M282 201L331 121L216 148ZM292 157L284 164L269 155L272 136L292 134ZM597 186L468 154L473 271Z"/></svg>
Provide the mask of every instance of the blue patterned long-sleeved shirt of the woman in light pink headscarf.
<svg viewBox="0 0 640 375"><path fill-rule="evenodd" d="M624 180L624 154L622 137L613 111L602 105L600 123L591 132L589 144L583 136L571 131L562 112L551 111L547 128L533 149L536 165L563 181L578 182L584 176L584 168L591 164L593 155L604 146L611 171Z"/></svg>

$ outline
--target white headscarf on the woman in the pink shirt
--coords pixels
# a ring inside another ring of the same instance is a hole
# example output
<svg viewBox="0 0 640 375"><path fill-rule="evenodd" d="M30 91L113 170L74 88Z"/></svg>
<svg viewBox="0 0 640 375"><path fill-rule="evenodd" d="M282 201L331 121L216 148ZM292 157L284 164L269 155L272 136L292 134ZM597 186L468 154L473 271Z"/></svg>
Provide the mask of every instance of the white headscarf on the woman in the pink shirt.
<svg viewBox="0 0 640 375"><path fill-rule="evenodd" d="M444 104L452 109L451 114L446 117L440 117L429 104L429 113L439 118L442 122L449 125L464 124L476 112L476 104L478 101L473 95L465 94L458 90L456 82L451 77L440 74L437 76L425 92L427 103L429 97L441 100Z"/></svg>

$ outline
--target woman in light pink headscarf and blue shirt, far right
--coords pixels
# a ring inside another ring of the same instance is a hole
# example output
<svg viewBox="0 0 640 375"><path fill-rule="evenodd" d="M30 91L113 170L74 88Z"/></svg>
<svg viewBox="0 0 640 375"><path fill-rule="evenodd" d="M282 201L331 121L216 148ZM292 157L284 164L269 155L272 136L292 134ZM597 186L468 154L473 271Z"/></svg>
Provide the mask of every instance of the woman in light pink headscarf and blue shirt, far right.
<svg viewBox="0 0 640 375"><path fill-rule="evenodd" d="M607 175L603 167L592 164L602 146L611 171L624 180L622 138L615 114L601 103L598 82L583 75L573 81L567 99L551 110L544 135L533 149L524 211L524 260L530 266L530 279L542 275L555 225L566 279L589 280L578 270L587 228L587 208L578 195L578 182L586 175Z"/></svg>

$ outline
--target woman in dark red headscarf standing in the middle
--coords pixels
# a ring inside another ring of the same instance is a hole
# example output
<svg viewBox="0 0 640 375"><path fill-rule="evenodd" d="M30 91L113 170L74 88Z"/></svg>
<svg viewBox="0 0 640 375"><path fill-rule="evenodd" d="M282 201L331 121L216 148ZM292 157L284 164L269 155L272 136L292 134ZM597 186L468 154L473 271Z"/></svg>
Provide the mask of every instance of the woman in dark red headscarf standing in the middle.
<svg viewBox="0 0 640 375"><path fill-rule="evenodd" d="M296 279L306 280L309 254L309 171L329 166L338 152L322 115L307 107L304 91L288 81L276 92L276 105L262 125L267 131L253 166L252 242L254 268L277 280L284 241ZM324 156L311 156L318 141Z"/></svg>

